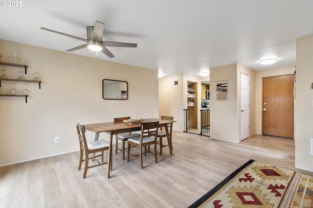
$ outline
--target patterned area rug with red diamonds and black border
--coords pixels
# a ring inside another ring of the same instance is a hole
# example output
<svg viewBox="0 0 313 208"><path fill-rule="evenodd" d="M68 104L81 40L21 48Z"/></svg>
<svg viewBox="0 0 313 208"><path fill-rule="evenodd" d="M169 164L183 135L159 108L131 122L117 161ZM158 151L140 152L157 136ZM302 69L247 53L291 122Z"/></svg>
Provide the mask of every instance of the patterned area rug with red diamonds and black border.
<svg viewBox="0 0 313 208"><path fill-rule="evenodd" d="M189 208L313 208L313 176L254 160Z"/></svg>

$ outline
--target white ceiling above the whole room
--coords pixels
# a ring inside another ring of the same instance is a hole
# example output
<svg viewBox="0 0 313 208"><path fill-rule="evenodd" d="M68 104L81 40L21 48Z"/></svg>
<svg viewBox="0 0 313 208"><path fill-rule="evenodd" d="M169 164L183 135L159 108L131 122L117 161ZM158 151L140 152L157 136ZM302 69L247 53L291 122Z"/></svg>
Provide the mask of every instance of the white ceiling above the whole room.
<svg viewBox="0 0 313 208"><path fill-rule="evenodd" d="M292 66L296 38L313 34L313 0L21 2L20 7L1 6L1 39L66 51L85 42L40 28L86 38L86 27L98 20L105 23L104 40L137 43L137 48L108 47L114 58L87 48L67 53L159 70L165 76L199 76L231 63L256 71ZM259 64L269 57L278 62Z"/></svg>

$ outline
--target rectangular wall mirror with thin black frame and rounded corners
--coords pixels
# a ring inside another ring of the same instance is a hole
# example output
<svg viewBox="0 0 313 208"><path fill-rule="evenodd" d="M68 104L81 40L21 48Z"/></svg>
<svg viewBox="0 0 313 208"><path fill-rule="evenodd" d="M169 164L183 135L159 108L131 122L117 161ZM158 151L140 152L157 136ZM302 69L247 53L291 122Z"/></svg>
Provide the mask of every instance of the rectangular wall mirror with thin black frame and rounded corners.
<svg viewBox="0 0 313 208"><path fill-rule="evenodd" d="M126 81L103 79L102 97L109 100L126 100L128 98L128 83Z"/></svg>

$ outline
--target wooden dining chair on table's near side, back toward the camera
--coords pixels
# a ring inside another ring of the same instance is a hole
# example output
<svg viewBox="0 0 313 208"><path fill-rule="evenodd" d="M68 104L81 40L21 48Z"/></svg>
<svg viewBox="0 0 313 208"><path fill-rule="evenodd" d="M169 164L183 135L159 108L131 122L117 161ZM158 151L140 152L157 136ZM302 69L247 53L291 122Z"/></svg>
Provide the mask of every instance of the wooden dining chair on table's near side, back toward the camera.
<svg viewBox="0 0 313 208"><path fill-rule="evenodd" d="M156 158L156 139L157 139L157 131L158 131L158 121L155 122L141 122L140 128L141 133L140 136L129 138L127 143L127 162L129 162L129 156L134 157L135 159L140 161L140 167L143 169L142 164L142 154L145 156L147 152L150 152L155 155L155 162L157 163ZM154 145L154 152L147 150L147 146ZM139 154L131 154L131 148L137 147L139 148ZM144 152L142 152L142 148L144 147Z"/></svg>

